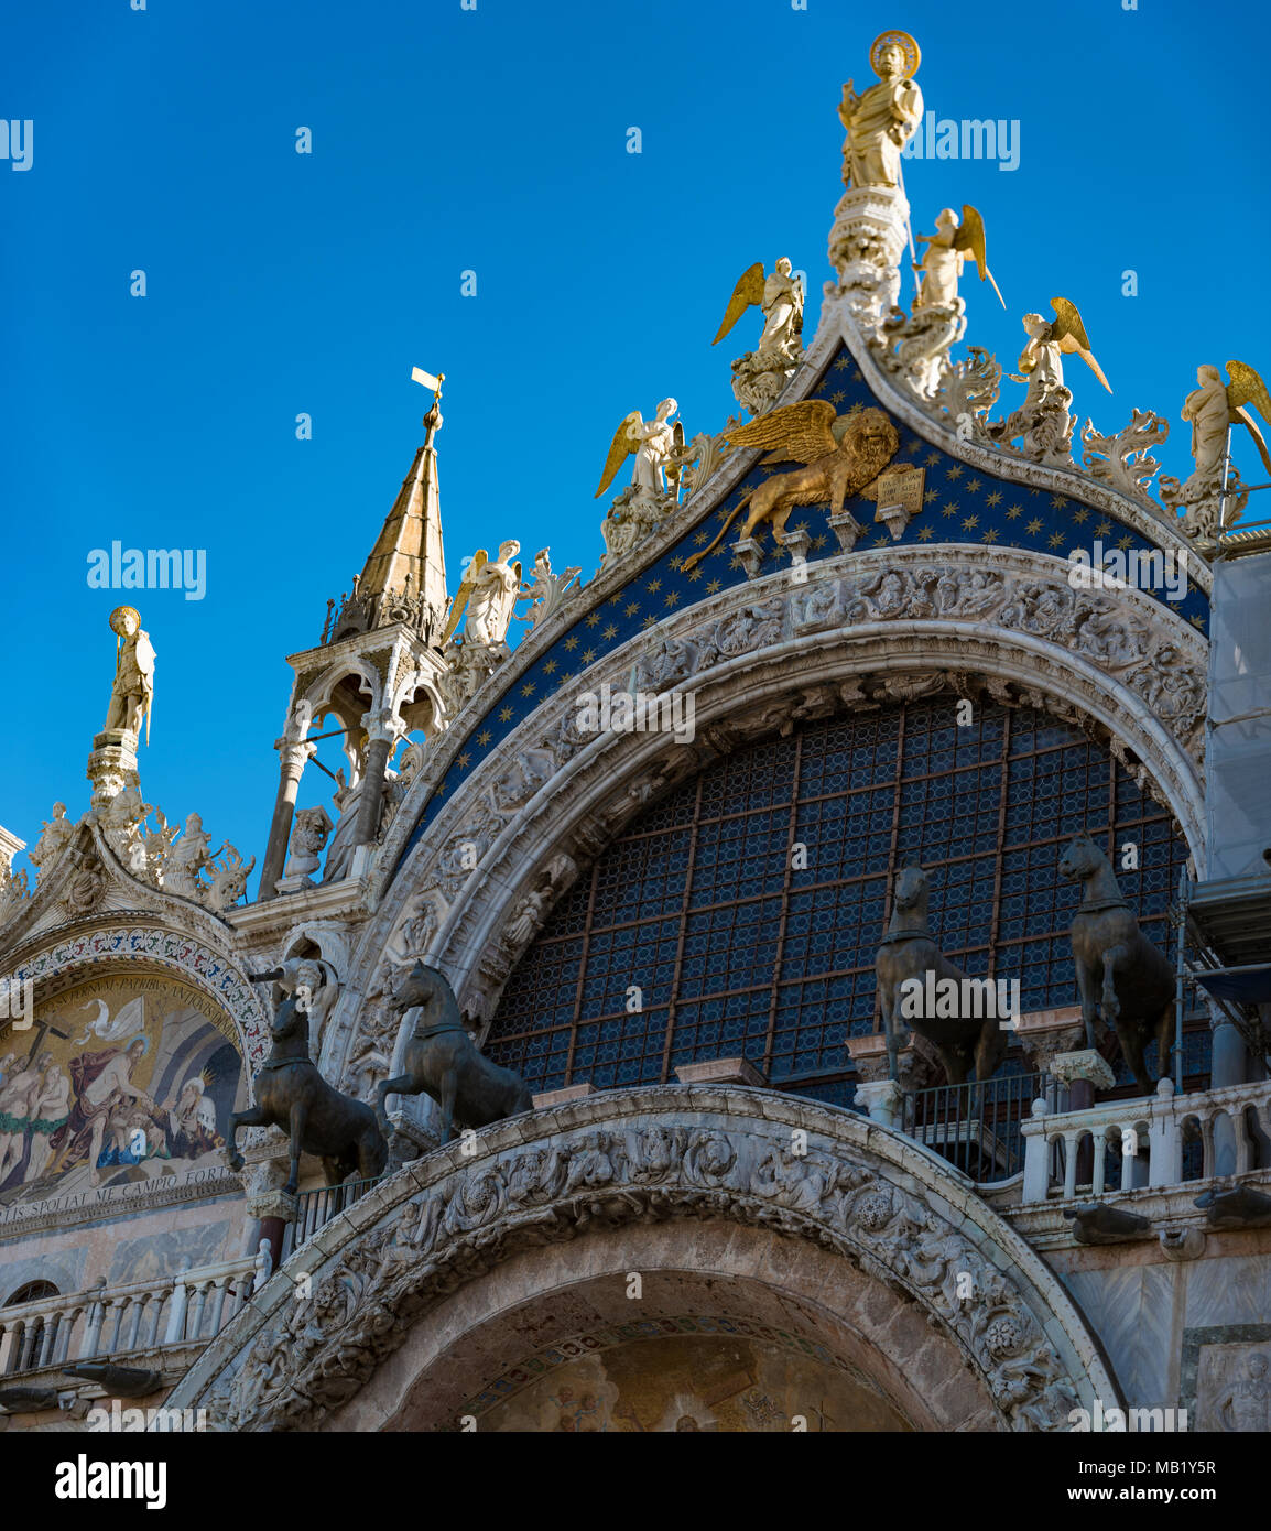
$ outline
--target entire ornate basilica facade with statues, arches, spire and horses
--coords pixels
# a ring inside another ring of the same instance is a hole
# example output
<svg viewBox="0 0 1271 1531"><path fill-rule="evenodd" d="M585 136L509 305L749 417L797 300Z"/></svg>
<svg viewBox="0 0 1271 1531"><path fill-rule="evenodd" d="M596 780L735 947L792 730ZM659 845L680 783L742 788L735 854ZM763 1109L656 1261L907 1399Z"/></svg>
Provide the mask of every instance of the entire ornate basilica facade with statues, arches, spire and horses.
<svg viewBox="0 0 1271 1531"><path fill-rule="evenodd" d="M622 421L590 579L450 594L420 374L251 894L112 619L90 801L0 831L5 1428L1271 1428L1271 537L1210 450L1265 389L1202 367L1158 481L1164 416L1075 435L1073 302L1026 392L965 344L974 208L902 308L873 63L815 334L746 273L737 416Z"/></svg>

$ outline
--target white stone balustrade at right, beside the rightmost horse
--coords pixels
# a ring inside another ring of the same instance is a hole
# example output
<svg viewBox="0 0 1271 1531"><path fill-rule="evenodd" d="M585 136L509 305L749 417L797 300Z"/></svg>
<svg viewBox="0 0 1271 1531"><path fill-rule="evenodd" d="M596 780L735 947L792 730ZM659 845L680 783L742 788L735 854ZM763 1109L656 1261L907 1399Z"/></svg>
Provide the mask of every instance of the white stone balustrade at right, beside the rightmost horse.
<svg viewBox="0 0 1271 1531"><path fill-rule="evenodd" d="M1109 1154L1119 1156L1121 1191L1181 1185L1184 1142L1191 1133L1202 1145L1196 1182L1266 1168L1271 1081L1175 1095L1171 1079L1158 1079L1155 1095L1080 1112L1052 1112L1034 1101L1032 1118L1023 1124L1023 1200L1107 1194Z"/></svg>

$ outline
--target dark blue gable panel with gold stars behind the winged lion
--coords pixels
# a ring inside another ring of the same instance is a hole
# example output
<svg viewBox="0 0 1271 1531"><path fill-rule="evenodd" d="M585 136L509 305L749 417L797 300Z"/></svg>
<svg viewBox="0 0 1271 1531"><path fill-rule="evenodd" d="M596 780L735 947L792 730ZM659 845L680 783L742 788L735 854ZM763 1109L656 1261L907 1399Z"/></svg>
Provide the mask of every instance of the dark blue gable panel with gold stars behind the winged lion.
<svg viewBox="0 0 1271 1531"><path fill-rule="evenodd" d="M821 381L807 397L828 400L839 413L882 407L867 387L861 369L847 348L839 348ZM1089 553L1096 540L1103 542L1106 551L1116 548L1126 553L1150 553L1155 547L1139 531L1103 510L1092 510L1066 495L1028 488L980 468L971 468L916 435L900 421L894 421L894 424L900 432L900 449L893 465L911 462L926 470L925 505L894 542L887 527L874 524L871 502L859 498L850 499L848 507L856 511L856 519L867 527L865 536L856 544L858 550L960 542L972 547L1029 548L1066 557L1078 547ZM629 638L657 626L675 611L692 606L729 586L746 583L746 573L734 560L732 553L735 525L720 547L688 573L683 570L683 562L691 553L706 547L743 495L747 495L773 472L781 473L789 472L789 468L763 467L756 462L709 519L689 527L674 547L637 574L619 594L611 596L590 612L580 614L568 632L557 638L470 727L462 750L452 761L420 822L412 830L397 870L401 868L446 799L453 796L487 753L498 749L501 739L507 738L557 687L567 684L580 671L620 648ZM798 516L798 521L790 521L790 527L805 528L810 533L809 563L839 556L838 539L828 525L828 505L801 507ZM779 554L783 563L772 557L773 544L767 528L760 528L755 539L764 547L770 560L770 568L766 565L763 573L783 566L786 556ZM1148 594L1162 600L1171 611L1178 611L1201 632L1208 631L1208 600L1196 585L1188 583L1187 594L1179 602L1167 602L1161 592Z"/></svg>

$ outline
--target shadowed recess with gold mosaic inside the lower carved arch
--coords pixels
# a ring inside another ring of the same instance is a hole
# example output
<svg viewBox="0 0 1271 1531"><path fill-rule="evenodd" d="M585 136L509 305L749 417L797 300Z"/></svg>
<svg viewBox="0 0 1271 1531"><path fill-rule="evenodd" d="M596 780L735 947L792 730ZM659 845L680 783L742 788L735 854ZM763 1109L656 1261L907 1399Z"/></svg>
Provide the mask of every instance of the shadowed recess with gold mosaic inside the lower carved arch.
<svg viewBox="0 0 1271 1531"><path fill-rule="evenodd" d="M720 1217L513 1255L444 1298L323 1428L560 1428L551 1399L568 1392L602 1405L583 1430L665 1428L668 1410L706 1430L1000 1427L919 1304L812 1242Z"/></svg>

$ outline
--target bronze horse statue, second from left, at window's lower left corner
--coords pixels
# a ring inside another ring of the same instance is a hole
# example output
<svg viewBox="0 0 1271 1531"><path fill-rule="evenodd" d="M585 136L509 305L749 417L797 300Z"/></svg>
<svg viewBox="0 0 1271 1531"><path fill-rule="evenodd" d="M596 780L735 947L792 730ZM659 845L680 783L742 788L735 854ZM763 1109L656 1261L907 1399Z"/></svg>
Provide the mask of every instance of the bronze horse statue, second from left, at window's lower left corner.
<svg viewBox="0 0 1271 1531"><path fill-rule="evenodd" d="M406 1072L380 1081L377 1112L384 1127L384 1096L389 1095L432 1096L441 1107L443 1144L450 1142L456 1124L461 1128L488 1127L534 1108L521 1075L501 1069L476 1050L464 1029L455 991L436 968L417 961L394 1007L398 1012L418 1009L420 1014L406 1044Z"/></svg>

